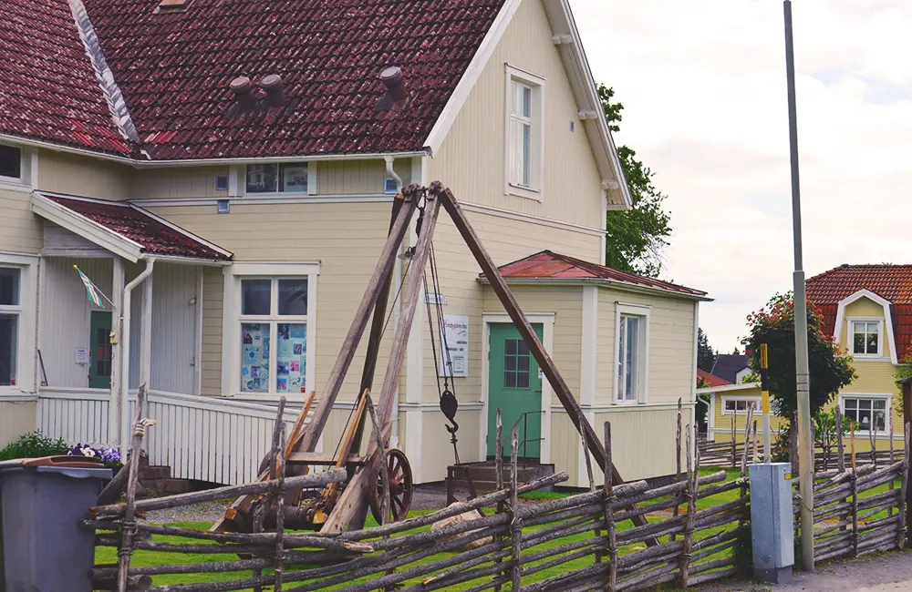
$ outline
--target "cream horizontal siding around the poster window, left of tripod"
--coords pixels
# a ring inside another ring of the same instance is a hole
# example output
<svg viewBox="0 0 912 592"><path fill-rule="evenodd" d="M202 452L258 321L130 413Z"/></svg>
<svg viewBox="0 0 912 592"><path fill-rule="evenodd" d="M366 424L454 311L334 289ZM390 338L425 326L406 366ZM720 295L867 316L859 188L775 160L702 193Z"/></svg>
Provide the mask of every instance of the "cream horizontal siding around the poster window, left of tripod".
<svg viewBox="0 0 912 592"><path fill-rule="evenodd" d="M352 322L358 302L367 286L377 255L386 240L390 203L244 204L234 203L231 213L217 215L210 206L166 206L150 208L154 213L234 253L237 261L319 260L317 288L316 384L323 390L326 375ZM222 278L209 270L204 289L205 341L203 346L204 389L207 394L223 393L221 385L221 292ZM217 292L217 296L215 293ZM385 335L378 357L378 375L386 368L389 339ZM360 368L364 364L367 340L363 340L352 362L340 402L353 401L358 393ZM311 345L308 344L308 347ZM224 393L233 394L233 393ZM335 412L334 412L335 413ZM327 426L324 439L336 443L341 432ZM335 444L333 444L335 445Z"/></svg>

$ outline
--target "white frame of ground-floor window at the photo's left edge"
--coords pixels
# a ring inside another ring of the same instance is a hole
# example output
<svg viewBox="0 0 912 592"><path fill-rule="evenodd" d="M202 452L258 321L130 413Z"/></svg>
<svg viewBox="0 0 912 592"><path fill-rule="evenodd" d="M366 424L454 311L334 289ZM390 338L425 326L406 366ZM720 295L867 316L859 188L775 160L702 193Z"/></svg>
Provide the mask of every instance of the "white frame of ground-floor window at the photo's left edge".
<svg viewBox="0 0 912 592"><path fill-rule="evenodd" d="M35 393L38 262L35 255L0 252L0 267L19 270L19 304L0 306L0 314L16 314L16 385L0 386L0 396Z"/></svg>

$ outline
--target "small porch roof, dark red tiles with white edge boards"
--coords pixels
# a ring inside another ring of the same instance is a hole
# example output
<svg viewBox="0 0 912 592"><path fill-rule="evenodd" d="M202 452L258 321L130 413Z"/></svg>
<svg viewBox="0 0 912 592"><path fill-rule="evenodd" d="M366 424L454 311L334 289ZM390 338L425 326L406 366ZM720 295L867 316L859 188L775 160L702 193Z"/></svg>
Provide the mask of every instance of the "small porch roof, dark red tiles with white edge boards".
<svg viewBox="0 0 912 592"><path fill-rule="evenodd" d="M130 261L148 255L230 261L233 254L129 202L35 191L32 211Z"/></svg>

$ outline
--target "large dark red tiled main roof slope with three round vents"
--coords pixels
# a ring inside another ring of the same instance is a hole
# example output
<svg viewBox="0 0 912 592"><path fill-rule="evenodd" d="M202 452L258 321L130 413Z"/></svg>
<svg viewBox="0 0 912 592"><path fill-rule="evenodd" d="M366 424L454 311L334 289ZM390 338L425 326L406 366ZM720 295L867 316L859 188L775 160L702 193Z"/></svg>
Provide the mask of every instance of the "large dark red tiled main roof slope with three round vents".
<svg viewBox="0 0 912 592"><path fill-rule="evenodd" d="M503 5L194 0L156 14L159 1L84 0L153 159L420 150ZM387 66L402 68L412 100L378 113ZM285 107L234 116L231 80L269 74L284 80Z"/></svg>

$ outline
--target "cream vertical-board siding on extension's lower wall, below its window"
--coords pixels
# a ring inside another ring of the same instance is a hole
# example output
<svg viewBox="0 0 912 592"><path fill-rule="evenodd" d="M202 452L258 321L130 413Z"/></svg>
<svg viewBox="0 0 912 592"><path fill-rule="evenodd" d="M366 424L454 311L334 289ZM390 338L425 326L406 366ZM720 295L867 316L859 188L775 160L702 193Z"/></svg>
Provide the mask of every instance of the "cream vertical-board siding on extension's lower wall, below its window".
<svg viewBox="0 0 912 592"><path fill-rule="evenodd" d="M684 407L681 424L693 423L691 409ZM605 422L611 422L611 455L625 481L674 475L678 429L678 409L675 405L661 409L596 413L596 434L603 434ZM580 444L576 448L580 448ZM686 461L683 444L681 454L682 462Z"/></svg>

